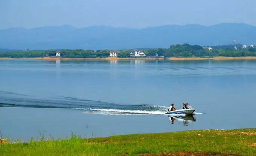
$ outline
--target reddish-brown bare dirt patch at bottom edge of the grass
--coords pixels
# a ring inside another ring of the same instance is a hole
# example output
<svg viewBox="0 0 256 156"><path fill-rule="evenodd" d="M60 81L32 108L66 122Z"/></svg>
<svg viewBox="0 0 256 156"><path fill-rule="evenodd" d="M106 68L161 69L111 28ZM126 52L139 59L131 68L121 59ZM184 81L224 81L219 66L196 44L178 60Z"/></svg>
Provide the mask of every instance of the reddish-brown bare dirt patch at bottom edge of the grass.
<svg viewBox="0 0 256 156"><path fill-rule="evenodd" d="M142 153L138 155L139 156L241 156L239 154L201 152L201 151L195 151L195 152L179 151L179 152L160 153L160 154Z"/></svg>

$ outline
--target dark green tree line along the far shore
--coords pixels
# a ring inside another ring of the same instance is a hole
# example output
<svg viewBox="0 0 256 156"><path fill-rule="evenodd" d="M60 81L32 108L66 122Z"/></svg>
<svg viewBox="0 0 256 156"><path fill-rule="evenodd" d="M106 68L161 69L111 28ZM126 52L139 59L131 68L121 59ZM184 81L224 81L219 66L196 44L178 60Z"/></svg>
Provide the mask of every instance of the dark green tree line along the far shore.
<svg viewBox="0 0 256 156"><path fill-rule="evenodd" d="M204 49L200 45L176 44L169 48L152 48L140 49L146 54L146 57L241 57L241 56L256 56L256 48L249 47L247 49L239 48L235 50L233 46L212 46L213 49ZM139 49L138 49L139 50ZM84 50L84 49L61 49L59 50L62 58L97 58L109 57L111 50ZM126 58L130 56L131 50L120 50L118 57ZM133 50L134 51L134 50ZM54 57L55 49L49 50L34 50L34 51L18 51L0 53L0 57L10 58L31 58L31 57Z"/></svg>

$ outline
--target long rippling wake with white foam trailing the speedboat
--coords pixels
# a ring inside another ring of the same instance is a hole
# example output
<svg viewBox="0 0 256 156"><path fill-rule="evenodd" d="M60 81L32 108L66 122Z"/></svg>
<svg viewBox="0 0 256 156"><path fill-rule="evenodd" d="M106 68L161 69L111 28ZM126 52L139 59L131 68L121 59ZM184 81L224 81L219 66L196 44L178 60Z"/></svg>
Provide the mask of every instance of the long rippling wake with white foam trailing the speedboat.
<svg viewBox="0 0 256 156"><path fill-rule="evenodd" d="M166 115L165 113L168 109L168 107L160 105L122 105L67 96L52 98L30 98L27 95L20 95L3 91L0 91L0 106L27 108L67 108L81 110L83 113L108 115Z"/></svg>

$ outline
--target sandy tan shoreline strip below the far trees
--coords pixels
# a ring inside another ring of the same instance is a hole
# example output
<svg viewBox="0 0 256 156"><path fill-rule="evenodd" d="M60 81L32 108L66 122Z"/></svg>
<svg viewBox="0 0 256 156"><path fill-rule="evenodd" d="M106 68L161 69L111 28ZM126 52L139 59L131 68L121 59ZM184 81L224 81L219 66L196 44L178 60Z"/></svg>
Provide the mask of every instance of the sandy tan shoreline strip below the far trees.
<svg viewBox="0 0 256 156"><path fill-rule="evenodd" d="M256 56L245 56L245 57L167 57L167 58L155 58L155 57L138 57L138 58L119 58L119 57L105 57L105 58L59 58L59 57L0 57L0 60L5 59L28 59L28 60L256 60Z"/></svg>

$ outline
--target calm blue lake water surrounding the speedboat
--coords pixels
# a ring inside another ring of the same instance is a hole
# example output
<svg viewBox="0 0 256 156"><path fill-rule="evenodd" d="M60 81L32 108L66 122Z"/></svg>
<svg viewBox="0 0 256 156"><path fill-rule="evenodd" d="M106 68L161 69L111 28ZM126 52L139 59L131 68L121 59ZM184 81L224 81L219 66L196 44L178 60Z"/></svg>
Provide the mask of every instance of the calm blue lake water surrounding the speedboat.
<svg viewBox="0 0 256 156"><path fill-rule="evenodd" d="M22 141L255 128L255 96L256 60L0 60L0 130Z"/></svg>

